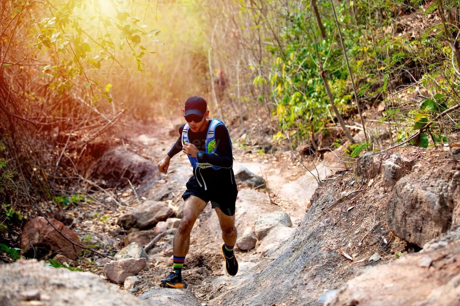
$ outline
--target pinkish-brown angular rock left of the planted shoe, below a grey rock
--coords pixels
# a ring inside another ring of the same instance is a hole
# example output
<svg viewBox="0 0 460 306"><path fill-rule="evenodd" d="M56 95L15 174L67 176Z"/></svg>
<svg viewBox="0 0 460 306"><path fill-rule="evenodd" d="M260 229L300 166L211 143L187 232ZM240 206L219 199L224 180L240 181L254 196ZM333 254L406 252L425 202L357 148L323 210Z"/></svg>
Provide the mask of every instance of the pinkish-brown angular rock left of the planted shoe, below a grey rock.
<svg viewBox="0 0 460 306"><path fill-rule="evenodd" d="M105 276L115 284L123 284L128 276L139 273L147 265L145 258L126 258L113 260L105 264Z"/></svg>

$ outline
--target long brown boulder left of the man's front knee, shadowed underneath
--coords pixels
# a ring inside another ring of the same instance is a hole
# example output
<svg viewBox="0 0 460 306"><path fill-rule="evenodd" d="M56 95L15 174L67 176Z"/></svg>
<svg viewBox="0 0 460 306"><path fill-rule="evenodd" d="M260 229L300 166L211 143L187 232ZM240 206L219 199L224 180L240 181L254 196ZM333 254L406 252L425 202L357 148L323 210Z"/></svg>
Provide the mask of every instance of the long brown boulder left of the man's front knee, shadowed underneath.
<svg viewBox="0 0 460 306"><path fill-rule="evenodd" d="M118 218L117 224L123 228L152 228L173 215L173 210L165 202L147 200Z"/></svg>

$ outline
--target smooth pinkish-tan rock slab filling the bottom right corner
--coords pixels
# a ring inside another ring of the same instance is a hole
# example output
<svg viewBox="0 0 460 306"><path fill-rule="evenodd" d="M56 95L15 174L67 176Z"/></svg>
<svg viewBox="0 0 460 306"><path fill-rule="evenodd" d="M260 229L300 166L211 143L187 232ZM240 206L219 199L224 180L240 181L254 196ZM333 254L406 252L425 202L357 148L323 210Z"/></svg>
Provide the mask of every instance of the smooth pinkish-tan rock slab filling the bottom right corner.
<svg viewBox="0 0 460 306"><path fill-rule="evenodd" d="M351 279L325 305L459 305L459 261L460 240L404 255Z"/></svg>

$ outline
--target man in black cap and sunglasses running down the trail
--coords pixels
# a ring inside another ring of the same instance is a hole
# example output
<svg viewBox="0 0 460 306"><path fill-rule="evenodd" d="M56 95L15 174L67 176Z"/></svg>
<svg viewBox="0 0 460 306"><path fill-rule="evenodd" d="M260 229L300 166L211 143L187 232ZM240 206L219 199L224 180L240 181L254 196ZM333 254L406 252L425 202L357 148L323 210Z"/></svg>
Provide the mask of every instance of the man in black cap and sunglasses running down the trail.
<svg viewBox="0 0 460 306"><path fill-rule="evenodd" d="M169 161L181 150L189 157L193 176L186 184L183 217L174 235L173 272L161 280L161 287L182 288L182 266L189 251L190 232L196 218L211 202L219 217L224 244L220 249L227 273L238 272L233 253L236 242L235 202L238 195L233 173L233 155L230 135L224 122L207 119L207 103L201 97L190 97L183 110L185 121L179 127L179 138L173 148L158 162L158 170L167 173Z"/></svg>

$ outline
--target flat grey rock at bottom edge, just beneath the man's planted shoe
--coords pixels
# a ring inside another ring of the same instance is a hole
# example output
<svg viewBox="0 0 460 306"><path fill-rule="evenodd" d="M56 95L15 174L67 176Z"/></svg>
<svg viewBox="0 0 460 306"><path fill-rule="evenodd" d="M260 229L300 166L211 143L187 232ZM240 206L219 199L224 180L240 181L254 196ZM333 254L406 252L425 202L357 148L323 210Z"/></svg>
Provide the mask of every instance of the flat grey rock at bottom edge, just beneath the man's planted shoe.
<svg viewBox="0 0 460 306"><path fill-rule="evenodd" d="M150 305L155 306L202 305L190 290L151 289L139 296L139 299L149 300Z"/></svg>

